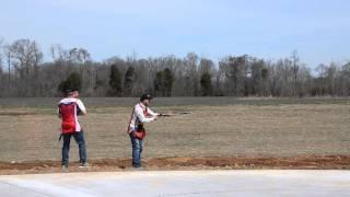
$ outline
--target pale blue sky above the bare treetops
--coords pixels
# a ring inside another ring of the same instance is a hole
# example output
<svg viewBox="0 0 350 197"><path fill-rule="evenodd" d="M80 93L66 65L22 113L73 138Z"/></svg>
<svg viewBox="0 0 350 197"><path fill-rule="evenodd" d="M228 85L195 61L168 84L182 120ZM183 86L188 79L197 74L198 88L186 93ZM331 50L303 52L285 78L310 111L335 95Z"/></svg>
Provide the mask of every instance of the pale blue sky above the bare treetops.
<svg viewBox="0 0 350 197"><path fill-rule="evenodd" d="M298 49L311 68L350 60L347 0L1 0L0 37L112 56L276 60Z"/></svg>

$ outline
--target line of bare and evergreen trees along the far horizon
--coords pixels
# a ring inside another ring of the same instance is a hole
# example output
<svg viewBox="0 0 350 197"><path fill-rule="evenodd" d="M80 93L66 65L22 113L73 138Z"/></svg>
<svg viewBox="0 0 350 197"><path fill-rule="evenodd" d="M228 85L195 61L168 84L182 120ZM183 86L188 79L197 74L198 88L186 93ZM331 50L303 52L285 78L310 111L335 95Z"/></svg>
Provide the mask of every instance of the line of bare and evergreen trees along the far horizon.
<svg viewBox="0 0 350 197"><path fill-rule="evenodd" d="M110 57L93 61L88 49L50 47L51 61L35 40L0 40L0 96L60 96L69 86L83 96L349 96L350 62L315 70L298 53L276 61L248 55L214 62L195 53L154 58Z"/></svg>

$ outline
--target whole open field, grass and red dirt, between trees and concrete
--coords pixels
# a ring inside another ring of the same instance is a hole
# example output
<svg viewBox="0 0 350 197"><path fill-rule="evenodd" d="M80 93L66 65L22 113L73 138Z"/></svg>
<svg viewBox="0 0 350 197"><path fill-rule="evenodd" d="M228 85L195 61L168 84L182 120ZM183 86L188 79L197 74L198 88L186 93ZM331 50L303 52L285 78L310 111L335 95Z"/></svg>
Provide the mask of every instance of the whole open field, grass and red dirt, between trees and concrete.
<svg viewBox="0 0 350 197"><path fill-rule="evenodd" d="M0 100L0 173L59 169L57 101ZM82 101L89 112L81 123L91 170L128 169L126 128L137 99ZM350 169L348 99L156 99L153 109L192 114L147 125L143 158L150 170ZM71 161L77 160L72 143Z"/></svg>

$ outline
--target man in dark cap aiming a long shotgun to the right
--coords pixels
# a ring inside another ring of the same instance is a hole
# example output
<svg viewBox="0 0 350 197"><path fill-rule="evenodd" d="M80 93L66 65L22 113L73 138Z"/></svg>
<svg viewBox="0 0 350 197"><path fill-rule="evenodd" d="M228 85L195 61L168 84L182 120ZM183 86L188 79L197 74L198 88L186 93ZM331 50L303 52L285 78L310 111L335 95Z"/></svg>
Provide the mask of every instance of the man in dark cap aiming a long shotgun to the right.
<svg viewBox="0 0 350 197"><path fill-rule="evenodd" d="M143 150L143 138L145 137L145 130L143 125L156 119L160 115L152 112L149 108L151 100L153 97L150 94L143 94L140 97L140 103L135 105L129 126L128 134L130 136L131 146L132 146L132 166L141 167L141 153Z"/></svg>

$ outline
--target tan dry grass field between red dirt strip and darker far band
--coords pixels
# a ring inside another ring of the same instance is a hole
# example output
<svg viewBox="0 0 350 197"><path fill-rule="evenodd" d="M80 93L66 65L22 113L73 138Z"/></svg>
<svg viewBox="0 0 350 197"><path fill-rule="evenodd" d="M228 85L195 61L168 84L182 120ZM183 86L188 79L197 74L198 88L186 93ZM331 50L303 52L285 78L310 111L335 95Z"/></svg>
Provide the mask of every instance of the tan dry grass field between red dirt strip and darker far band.
<svg viewBox="0 0 350 197"><path fill-rule="evenodd" d="M130 157L126 128L131 107L91 108L81 119L90 159ZM145 158L350 155L347 103L174 105L154 109L194 113L149 124ZM54 112L0 109L0 161L60 160L59 119ZM72 161L78 160L77 152L72 143Z"/></svg>

